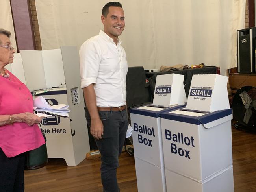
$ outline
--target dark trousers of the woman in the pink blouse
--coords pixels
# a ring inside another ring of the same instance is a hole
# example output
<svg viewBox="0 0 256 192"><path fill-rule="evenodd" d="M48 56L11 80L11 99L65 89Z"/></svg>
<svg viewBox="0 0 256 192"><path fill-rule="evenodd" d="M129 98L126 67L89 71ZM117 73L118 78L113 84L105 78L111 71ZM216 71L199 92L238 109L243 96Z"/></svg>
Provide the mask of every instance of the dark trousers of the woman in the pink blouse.
<svg viewBox="0 0 256 192"><path fill-rule="evenodd" d="M24 192L24 153L8 158L0 148L0 192Z"/></svg>

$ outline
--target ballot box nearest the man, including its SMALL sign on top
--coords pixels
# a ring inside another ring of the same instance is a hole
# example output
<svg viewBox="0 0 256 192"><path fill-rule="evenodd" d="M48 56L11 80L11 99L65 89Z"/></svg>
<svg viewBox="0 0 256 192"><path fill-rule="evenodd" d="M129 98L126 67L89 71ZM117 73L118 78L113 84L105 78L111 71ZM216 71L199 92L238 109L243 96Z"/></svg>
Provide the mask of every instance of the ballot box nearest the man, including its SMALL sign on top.
<svg viewBox="0 0 256 192"><path fill-rule="evenodd" d="M165 78L162 78L162 76L165 76ZM167 191L159 114L185 106L186 95L182 83L183 78L183 75L177 74L158 76L156 82L157 94L155 94L153 105L130 109L139 192ZM176 95L172 94L175 90ZM172 99L173 102L171 102Z"/></svg>

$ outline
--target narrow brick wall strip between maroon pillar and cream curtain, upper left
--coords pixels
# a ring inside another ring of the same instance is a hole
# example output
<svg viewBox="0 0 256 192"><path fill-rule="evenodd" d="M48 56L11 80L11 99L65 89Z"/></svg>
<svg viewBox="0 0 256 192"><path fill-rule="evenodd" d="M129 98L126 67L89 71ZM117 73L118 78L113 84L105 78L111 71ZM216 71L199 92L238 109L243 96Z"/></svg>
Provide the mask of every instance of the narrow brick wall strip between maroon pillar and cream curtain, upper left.
<svg viewBox="0 0 256 192"><path fill-rule="evenodd" d="M40 32L39 32L38 20L37 20L37 11L35 8L35 0L30 0L30 9L31 9L32 21L33 21L36 50L42 50Z"/></svg>

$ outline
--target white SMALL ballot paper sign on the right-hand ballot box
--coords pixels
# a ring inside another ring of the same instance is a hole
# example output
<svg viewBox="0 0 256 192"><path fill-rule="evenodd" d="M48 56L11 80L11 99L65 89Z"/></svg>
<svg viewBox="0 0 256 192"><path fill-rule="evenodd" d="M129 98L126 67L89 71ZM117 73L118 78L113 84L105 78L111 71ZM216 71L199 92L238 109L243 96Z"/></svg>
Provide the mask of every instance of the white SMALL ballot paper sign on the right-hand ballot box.
<svg viewBox="0 0 256 192"><path fill-rule="evenodd" d="M216 111L229 109L228 77L218 74L193 75L187 109Z"/></svg>

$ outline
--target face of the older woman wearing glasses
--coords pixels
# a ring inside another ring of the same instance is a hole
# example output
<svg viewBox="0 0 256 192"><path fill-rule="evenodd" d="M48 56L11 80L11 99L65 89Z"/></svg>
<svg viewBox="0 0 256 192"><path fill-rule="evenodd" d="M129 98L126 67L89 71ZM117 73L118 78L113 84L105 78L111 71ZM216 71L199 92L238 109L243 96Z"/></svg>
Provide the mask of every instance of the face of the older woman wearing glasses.
<svg viewBox="0 0 256 192"><path fill-rule="evenodd" d="M11 47L11 41L6 35L0 34L0 41L0 45ZM6 47L0 47L0 63L5 65L13 63L13 53L15 53L14 49L10 50Z"/></svg>

